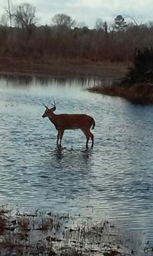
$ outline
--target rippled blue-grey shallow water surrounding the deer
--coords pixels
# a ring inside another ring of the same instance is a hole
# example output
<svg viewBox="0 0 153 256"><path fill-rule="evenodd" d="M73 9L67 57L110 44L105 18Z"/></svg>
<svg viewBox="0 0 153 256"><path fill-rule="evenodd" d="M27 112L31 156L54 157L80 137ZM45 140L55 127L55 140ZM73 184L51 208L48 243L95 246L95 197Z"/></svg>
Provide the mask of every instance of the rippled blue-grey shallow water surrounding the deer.
<svg viewBox="0 0 153 256"><path fill-rule="evenodd" d="M95 81L96 82L96 81ZM85 91L93 80L0 79L0 198L41 208L109 218L153 241L153 107ZM44 106L96 120L95 145L65 131L63 150Z"/></svg>

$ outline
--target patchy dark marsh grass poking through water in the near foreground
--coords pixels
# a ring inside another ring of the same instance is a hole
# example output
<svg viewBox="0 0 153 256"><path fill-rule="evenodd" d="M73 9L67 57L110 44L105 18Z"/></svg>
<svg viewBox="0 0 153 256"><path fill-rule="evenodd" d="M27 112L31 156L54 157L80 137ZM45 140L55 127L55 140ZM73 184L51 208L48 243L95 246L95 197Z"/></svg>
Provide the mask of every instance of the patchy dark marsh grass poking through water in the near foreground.
<svg viewBox="0 0 153 256"><path fill-rule="evenodd" d="M122 234L115 224L91 224L69 214L0 211L0 252L7 255L129 256L138 255L140 243Z"/></svg>

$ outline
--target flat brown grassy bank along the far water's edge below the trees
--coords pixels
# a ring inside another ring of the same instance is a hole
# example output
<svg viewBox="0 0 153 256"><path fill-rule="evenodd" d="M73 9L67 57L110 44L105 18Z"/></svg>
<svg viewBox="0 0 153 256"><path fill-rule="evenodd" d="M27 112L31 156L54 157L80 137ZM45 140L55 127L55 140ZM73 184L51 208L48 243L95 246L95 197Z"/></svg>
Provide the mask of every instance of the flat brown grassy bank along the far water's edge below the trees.
<svg viewBox="0 0 153 256"><path fill-rule="evenodd" d="M124 77L128 63L92 62L86 59L32 59L0 58L0 74L91 76L116 79Z"/></svg>

